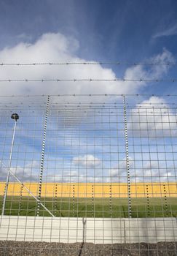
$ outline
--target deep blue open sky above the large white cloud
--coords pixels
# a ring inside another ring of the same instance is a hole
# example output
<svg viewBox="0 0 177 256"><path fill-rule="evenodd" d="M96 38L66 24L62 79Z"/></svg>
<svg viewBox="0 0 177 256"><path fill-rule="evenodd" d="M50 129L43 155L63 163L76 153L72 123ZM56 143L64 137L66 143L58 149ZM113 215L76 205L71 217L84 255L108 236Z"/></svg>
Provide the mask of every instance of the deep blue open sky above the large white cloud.
<svg viewBox="0 0 177 256"><path fill-rule="evenodd" d="M0 7L1 48L59 31L79 40L82 58L139 61L164 47L176 54L177 29L154 39L176 26L176 1L1 0Z"/></svg>

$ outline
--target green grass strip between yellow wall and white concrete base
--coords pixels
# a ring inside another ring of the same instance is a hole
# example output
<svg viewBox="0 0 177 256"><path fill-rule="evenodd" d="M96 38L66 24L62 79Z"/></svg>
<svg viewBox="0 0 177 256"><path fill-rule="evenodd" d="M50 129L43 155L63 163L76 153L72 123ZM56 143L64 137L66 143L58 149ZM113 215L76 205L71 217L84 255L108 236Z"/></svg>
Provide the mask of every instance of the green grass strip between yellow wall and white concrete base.
<svg viewBox="0 0 177 256"><path fill-rule="evenodd" d="M0 206L2 206L0 197ZM55 198L42 197L42 203L56 217L128 217L127 198ZM0 210L1 213L1 210ZM36 216L32 197L7 197L5 215ZM50 214L40 208L40 216ZM177 217L176 197L132 198L132 217Z"/></svg>

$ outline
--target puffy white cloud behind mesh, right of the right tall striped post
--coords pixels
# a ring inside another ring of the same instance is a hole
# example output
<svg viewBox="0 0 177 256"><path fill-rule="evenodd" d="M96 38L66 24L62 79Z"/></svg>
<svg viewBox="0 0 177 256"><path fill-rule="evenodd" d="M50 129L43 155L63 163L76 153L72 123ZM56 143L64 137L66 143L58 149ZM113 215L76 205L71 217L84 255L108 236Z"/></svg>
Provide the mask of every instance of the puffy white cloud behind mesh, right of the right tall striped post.
<svg viewBox="0 0 177 256"><path fill-rule="evenodd" d="M131 110L128 129L138 136L175 136L176 121L177 116L165 99L150 97Z"/></svg>

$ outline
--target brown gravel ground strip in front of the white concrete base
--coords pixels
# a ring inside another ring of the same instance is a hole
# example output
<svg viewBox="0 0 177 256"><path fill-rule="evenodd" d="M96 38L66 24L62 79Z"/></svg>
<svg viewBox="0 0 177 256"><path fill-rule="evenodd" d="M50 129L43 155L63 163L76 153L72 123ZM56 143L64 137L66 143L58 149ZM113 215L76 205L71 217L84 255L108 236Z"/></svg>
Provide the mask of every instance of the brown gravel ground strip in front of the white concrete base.
<svg viewBox="0 0 177 256"><path fill-rule="evenodd" d="M89 244L0 241L1 256L177 256L177 242Z"/></svg>

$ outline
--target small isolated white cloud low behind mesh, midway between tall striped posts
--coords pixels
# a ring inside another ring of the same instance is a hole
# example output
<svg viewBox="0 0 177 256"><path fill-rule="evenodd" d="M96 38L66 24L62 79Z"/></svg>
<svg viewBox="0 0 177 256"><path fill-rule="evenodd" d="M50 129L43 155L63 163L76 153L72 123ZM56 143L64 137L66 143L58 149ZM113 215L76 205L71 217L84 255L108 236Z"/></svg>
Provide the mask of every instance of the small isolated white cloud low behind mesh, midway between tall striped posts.
<svg viewBox="0 0 177 256"><path fill-rule="evenodd" d="M94 157L92 154L86 154L83 157L74 157L72 163L82 167L94 168L98 165L101 165L101 159Z"/></svg>

